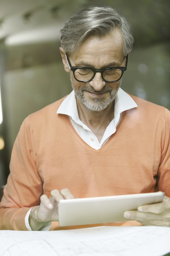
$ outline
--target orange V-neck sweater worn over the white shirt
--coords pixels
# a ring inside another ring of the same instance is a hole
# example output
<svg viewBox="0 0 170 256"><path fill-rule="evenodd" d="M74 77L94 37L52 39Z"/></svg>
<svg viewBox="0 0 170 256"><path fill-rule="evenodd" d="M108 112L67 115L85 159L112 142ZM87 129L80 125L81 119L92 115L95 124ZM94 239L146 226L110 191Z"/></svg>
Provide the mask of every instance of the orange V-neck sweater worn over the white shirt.
<svg viewBox="0 0 170 256"><path fill-rule="evenodd" d="M56 114L63 99L27 117L12 151L0 228L27 230L28 210L52 189L69 188L75 197L158 190L170 197L170 112L132 98L138 108L123 113L116 132L99 150L79 137L68 116ZM52 229L56 226L54 222Z"/></svg>

